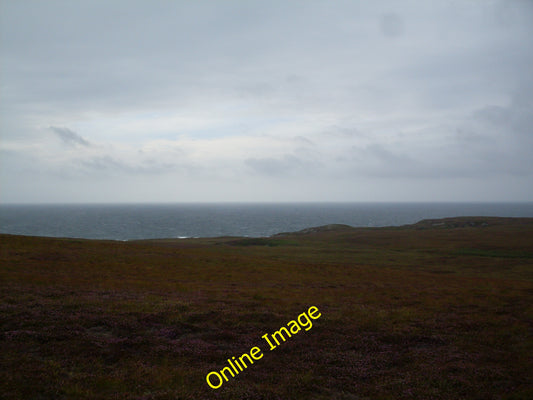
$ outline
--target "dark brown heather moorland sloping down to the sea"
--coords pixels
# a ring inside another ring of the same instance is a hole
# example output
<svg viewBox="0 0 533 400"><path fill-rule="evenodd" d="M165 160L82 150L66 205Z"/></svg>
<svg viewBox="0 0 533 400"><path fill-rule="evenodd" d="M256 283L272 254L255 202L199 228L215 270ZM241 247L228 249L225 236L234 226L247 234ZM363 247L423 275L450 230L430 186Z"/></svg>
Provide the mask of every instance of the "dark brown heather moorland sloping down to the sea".
<svg viewBox="0 0 533 400"><path fill-rule="evenodd" d="M274 350L261 338L310 306ZM263 351L219 389L206 375ZM2 399L532 399L533 219L0 235Z"/></svg>

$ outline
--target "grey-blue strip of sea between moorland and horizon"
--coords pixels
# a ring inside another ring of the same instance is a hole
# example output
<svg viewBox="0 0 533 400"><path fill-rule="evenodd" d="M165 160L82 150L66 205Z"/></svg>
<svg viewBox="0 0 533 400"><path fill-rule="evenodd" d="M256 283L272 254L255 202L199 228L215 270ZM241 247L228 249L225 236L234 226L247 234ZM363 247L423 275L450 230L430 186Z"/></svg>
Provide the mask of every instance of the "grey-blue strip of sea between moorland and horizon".
<svg viewBox="0 0 533 400"><path fill-rule="evenodd" d="M87 239L270 236L326 225L456 216L533 217L533 203L1 205L0 232Z"/></svg>

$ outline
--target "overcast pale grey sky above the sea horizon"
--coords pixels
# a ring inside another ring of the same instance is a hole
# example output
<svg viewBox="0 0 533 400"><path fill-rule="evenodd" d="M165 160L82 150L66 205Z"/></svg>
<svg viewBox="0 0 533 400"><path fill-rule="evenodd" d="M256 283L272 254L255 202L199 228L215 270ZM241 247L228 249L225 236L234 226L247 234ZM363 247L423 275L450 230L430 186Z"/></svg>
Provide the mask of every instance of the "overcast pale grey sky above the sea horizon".
<svg viewBox="0 0 533 400"><path fill-rule="evenodd" d="M533 1L0 1L0 202L532 201Z"/></svg>

